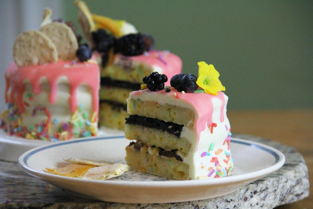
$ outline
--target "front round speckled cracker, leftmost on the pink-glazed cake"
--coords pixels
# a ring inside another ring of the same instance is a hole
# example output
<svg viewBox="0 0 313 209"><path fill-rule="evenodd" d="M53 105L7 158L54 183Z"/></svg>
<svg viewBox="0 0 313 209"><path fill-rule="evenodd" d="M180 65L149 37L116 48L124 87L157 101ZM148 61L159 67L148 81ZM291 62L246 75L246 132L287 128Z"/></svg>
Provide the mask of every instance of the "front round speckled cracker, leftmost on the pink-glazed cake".
<svg viewBox="0 0 313 209"><path fill-rule="evenodd" d="M40 31L30 30L15 39L13 59L19 67L42 65L57 62L58 52L49 37Z"/></svg>

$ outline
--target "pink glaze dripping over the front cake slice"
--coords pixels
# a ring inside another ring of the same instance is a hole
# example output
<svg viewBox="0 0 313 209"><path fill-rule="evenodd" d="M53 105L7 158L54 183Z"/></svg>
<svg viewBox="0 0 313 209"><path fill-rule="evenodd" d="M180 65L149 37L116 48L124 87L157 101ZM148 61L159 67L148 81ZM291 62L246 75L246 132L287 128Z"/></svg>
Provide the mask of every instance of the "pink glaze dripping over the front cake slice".
<svg viewBox="0 0 313 209"><path fill-rule="evenodd" d="M200 133L205 130L206 124L208 125L209 128L211 128L211 133L212 133L213 127L216 127L218 122L222 123L225 119L224 107L225 107L226 101L224 97L225 94L222 91L219 91L218 94L215 96L215 95L207 94L204 92L182 93L182 92L178 92L176 89L170 92L166 92L165 89L161 91L150 91L148 89L145 89L145 90L139 90L139 91L132 91L130 93L130 97L140 96L143 93L166 94L167 96L175 97L177 99L182 99L183 101L190 103L195 108L198 114L198 119L195 121L195 124L194 124L194 129L197 133L196 149L198 147ZM212 120L213 109L214 109L212 100L214 98L217 98L221 102L221 107L219 110L220 121Z"/></svg>

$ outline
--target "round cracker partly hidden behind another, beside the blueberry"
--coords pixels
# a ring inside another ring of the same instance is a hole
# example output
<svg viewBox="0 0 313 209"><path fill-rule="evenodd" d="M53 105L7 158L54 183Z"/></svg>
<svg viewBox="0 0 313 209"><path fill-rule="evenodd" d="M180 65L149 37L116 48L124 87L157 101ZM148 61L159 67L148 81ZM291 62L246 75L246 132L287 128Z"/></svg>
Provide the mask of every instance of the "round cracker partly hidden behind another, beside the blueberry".
<svg viewBox="0 0 313 209"><path fill-rule="evenodd" d="M59 60L75 59L78 43L73 30L69 26L59 22L52 22L45 24L39 31L52 40L58 51Z"/></svg>

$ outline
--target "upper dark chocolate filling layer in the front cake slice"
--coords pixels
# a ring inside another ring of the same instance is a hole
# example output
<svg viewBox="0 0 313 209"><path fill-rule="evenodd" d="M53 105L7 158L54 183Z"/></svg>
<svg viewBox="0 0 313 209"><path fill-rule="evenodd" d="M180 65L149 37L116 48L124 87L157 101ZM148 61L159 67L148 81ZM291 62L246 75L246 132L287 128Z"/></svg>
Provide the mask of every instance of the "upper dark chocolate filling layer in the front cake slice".
<svg viewBox="0 0 313 209"><path fill-rule="evenodd" d="M126 118L126 123L166 131L175 135L177 138L180 137L182 127L184 127L184 125L179 125L177 123L165 122L156 118L147 118L139 115L130 115L128 118Z"/></svg>

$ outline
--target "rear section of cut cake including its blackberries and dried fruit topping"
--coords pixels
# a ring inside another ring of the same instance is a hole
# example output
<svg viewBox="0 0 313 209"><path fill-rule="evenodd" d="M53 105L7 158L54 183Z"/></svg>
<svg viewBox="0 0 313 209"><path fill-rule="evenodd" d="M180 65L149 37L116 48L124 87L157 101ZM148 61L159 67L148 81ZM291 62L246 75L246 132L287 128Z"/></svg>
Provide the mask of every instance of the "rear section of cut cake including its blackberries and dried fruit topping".
<svg viewBox="0 0 313 209"><path fill-rule="evenodd" d="M128 117L126 99L131 91L140 90L142 77L155 71L172 77L181 73L182 61L169 51L153 50L151 35L139 33L132 24L91 14L82 1L75 4L100 65L99 125L123 130Z"/></svg>

